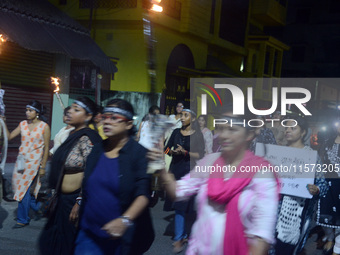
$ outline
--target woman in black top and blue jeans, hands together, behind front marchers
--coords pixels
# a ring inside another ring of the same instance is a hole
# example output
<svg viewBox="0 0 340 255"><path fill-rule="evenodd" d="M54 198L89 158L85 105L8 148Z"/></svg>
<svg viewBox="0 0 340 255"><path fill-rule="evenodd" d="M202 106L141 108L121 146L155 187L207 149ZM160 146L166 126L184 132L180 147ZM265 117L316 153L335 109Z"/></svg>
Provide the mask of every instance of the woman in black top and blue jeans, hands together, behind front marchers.
<svg viewBox="0 0 340 255"><path fill-rule="evenodd" d="M181 112L182 128L175 129L166 144L166 151L172 157L169 171L176 180L188 174L196 161L204 156L204 138L196 120L196 113L190 109ZM173 251L179 253L187 241L185 231L186 214L193 211L193 201L172 203L166 199L164 210L175 209L175 235Z"/></svg>

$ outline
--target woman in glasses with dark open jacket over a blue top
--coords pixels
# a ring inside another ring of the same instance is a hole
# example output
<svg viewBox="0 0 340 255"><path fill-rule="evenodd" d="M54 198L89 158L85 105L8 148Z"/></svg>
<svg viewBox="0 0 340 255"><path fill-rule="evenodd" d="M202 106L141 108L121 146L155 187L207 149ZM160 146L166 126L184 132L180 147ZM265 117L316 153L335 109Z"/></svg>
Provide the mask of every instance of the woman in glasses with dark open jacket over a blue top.
<svg viewBox="0 0 340 255"><path fill-rule="evenodd" d="M133 139L133 115L122 99L104 108L108 139L87 161L75 255L141 255L153 242L147 150Z"/></svg>

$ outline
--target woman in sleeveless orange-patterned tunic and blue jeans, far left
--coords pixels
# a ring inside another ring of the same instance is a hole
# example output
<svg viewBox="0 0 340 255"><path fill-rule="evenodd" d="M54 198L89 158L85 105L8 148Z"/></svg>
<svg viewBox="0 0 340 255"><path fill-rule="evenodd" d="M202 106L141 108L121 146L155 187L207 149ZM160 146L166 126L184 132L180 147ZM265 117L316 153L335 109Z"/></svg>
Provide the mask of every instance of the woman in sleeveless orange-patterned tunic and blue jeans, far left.
<svg viewBox="0 0 340 255"><path fill-rule="evenodd" d="M29 224L29 209L40 213L40 203L36 198L41 187L40 176L45 174L50 142L50 128L44 122L44 107L36 100L26 105L27 120L9 133L8 140L21 134L19 155L14 167L12 186L14 199L19 201L17 223L13 228L22 228ZM33 193L33 196L31 195Z"/></svg>

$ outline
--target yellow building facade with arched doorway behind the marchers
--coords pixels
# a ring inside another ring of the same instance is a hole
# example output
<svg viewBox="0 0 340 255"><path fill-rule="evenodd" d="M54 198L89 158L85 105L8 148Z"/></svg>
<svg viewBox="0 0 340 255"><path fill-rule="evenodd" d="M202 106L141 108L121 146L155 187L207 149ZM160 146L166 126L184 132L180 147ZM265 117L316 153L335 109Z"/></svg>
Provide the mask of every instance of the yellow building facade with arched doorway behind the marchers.
<svg viewBox="0 0 340 255"><path fill-rule="evenodd" d="M283 0L162 0L162 12L151 10L152 0L50 2L90 28L117 63L114 76L104 74L101 86L111 92L102 95L120 93L141 116L155 102L166 114L177 100L189 102L191 77L280 77L288 50L264 32L285 25ZM255 85L258 105L271 100L272 83Z"/></svg>

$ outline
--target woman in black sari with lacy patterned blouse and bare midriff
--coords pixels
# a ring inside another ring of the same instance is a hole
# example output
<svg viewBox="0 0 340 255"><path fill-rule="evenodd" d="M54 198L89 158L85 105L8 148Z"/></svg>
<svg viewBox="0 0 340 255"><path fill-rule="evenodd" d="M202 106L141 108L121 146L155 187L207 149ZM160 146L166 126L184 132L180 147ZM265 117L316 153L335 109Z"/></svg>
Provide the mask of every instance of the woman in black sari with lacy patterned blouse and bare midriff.
<svg viewBox="0 0 340 255"><path fill-rule="evenodd" d="M88 128L96 109L91 99L80 97L67 112L66 123L74 130L52 159L49 181L51 188L57 192L58 200L55 211L49 212L48 222L39 238L41 254L73 254L84 169L89 154L102 140L96 131Z"/></svg>

